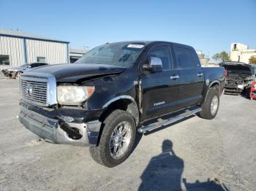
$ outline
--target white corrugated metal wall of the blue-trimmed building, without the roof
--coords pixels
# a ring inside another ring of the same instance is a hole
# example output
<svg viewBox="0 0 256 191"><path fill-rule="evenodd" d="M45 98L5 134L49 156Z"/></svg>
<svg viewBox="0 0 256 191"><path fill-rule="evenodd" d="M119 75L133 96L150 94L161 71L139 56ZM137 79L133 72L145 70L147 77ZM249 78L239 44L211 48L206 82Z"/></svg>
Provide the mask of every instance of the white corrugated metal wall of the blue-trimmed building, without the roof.
<svg viewBox="0 0 256 191"><path fill-rule="evenodd" d="M25 43L24 43L25 42ZM26 59L25 49L26 45ZM0 70L20 66L25 62L37 62L37 57L45 57L47 63L69 63L69 47L65 42L50 42L23 37L0 36L0 55L9 55L10 65L1 65Z"/></svg>

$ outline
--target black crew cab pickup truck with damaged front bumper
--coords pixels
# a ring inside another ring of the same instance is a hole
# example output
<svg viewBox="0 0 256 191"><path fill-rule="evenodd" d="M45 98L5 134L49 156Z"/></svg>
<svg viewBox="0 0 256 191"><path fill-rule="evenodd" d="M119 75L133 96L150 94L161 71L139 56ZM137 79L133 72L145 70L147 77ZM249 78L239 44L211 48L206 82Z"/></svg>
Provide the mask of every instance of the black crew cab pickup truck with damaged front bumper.
<svg viewBox="0 0 256 191"><path fill-rule="evenodd" d="M187 45L103 44L76 63L21 74L18 118L42 139L89 146L97 163L114 167L132 152L136 133L197 113L213 119L224 85L225 70L202 68Z"/></svg>

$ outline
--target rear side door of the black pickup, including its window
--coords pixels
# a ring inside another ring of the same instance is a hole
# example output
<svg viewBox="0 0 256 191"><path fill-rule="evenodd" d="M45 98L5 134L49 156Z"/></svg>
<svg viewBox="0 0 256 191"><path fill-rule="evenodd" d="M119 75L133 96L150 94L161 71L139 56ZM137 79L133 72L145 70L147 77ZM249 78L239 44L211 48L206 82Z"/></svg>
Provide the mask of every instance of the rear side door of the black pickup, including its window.
<svg viewBox="0 0 256 191"><path fill-rule="evenodd" d="M178 108L200 102L203 92L203 69L195 50L190 47L173 45L178 63Z"/></svg>

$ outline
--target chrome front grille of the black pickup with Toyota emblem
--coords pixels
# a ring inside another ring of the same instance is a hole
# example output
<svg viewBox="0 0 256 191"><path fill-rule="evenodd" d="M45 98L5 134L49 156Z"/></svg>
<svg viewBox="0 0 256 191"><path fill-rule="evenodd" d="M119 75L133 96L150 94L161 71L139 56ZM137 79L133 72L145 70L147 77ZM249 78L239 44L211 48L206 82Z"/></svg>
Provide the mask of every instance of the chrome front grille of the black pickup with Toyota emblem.
<svg viewBox="0 0 256 191"><path fill-rule="evenodd" d="M29 79L20 79L21 97L31 103L41 106L48 104L48 82L37 82Z"/></svg>

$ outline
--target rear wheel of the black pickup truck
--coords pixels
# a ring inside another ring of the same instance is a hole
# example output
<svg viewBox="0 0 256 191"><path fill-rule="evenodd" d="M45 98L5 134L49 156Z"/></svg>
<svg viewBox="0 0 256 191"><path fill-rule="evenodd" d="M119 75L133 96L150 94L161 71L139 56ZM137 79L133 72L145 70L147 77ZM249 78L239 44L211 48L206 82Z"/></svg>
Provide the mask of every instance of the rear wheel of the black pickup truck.
<svg viewBox="0 0 256 191"><path fill-rule="evenodd" d="M211 120L216 117L219 110L219 92L217 88L211 87L206 94L206 100L201 105L202 111L199 117Z"/></svg>

